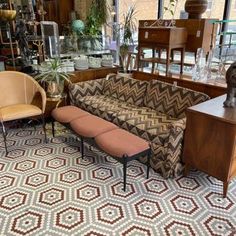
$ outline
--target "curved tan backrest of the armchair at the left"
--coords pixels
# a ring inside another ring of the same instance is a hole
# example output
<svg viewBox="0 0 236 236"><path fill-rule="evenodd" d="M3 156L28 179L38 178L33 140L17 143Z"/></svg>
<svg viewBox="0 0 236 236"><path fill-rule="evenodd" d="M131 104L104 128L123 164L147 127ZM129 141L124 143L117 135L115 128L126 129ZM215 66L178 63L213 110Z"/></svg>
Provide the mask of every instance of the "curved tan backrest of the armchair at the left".
<svg viewBox="0 0 236 236"><path fill-rule="evenodd" d="M46 104L46 94L31 76L17 71L0 72L0 107L13 104L31 104L36 93L42 97L42 110Z"/></svg>

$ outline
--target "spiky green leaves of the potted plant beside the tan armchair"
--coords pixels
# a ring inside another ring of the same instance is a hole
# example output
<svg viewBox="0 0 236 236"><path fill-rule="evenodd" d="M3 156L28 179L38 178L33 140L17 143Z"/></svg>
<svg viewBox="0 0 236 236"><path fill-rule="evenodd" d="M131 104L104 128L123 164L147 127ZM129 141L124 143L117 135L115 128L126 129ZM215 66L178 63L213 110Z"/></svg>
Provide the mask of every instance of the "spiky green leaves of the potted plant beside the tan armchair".
<svg viewBox="0 0 236 236"><path fill-rule="evenodd" d="M59 84L61 81L67 81L70 83L69 77L72 74L64 72L63 64L58 58L43 63L41 70L42 72L35 77L40 82L56 82Z"/></svg>

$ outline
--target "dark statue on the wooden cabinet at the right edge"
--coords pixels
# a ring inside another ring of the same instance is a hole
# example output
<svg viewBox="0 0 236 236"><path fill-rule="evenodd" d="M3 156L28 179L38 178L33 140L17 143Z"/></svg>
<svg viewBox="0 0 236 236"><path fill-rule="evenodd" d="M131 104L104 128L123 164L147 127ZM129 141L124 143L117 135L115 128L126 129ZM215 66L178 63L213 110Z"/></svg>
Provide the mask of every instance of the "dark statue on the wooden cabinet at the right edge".
<svg viewBox="0 0 236 236"><path fill-rule="evenodd" d="M236 61L232 63L226 72L227 97L224 107L235 107L234 98L236 97Z"/></svg>

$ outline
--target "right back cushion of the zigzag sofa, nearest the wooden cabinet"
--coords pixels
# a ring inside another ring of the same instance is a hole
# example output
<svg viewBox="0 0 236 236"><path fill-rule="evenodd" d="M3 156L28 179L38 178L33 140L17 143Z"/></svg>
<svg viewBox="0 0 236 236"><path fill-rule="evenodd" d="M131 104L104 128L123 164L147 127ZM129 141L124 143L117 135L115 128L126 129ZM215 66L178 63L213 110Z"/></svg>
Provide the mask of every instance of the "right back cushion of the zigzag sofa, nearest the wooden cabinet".
<svg viewBox="0 0 236 236"><path fill-rule="evenodd" d="M185 117L185 110L209 97L197 91L151 80L147 88L144 105L171 117Z"/></svg>

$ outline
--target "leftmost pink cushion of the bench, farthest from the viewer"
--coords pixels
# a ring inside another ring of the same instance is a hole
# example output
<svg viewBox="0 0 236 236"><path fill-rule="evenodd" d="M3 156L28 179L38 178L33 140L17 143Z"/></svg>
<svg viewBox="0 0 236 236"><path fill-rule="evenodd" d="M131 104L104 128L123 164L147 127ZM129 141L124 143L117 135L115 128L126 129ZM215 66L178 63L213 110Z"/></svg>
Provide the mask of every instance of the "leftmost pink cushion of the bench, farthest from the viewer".
<svg viewBox="0 0 236 236"><path fill-rule="evenodd" d="M90 113L76 107L76 106L64 106L55 108L52 111L52 117L60 123L69 123L70 121L80 118L83 116L88 116Z"/></svg>

